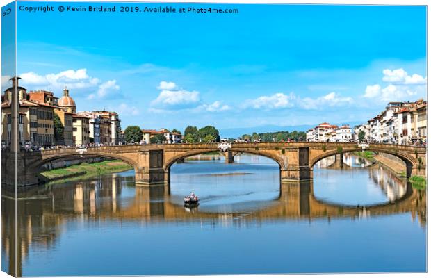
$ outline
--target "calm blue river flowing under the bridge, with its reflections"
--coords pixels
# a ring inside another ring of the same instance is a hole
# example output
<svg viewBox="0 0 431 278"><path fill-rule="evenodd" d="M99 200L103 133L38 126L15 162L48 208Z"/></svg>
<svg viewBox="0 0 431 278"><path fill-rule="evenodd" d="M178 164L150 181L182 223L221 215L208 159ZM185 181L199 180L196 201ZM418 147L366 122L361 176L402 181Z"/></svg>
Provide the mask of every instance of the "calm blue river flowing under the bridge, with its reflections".
<svg viewBox="0 0 431 278"><path fill-rule="evenodd" d="M2 269L23 276L425 272L426 195L355 156L314 181L276 163L188 161L170 186L133 171L2 196ZM351 167L353 166L353 167ZM200 206L185 208L194 190ZM18 228L17 257L13 228Z"/></svg>

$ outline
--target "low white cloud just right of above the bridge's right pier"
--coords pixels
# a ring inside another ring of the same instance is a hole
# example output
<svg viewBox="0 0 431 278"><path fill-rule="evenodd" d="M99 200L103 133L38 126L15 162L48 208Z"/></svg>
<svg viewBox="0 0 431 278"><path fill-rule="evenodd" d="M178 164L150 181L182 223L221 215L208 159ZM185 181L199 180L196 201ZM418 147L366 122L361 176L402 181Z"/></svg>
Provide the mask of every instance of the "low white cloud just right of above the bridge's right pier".
<svg viewBox="0 0 431 278"><path fill-rule="evenodd" d="M352 97L341 97L341 95L336 92L330 92L323 97L318 97L317 99L311 99L310 97L305 97L304 99L298 99L298 105L307 110L319 110L327 107L340 107L348 106L353 104Z"/></svg>

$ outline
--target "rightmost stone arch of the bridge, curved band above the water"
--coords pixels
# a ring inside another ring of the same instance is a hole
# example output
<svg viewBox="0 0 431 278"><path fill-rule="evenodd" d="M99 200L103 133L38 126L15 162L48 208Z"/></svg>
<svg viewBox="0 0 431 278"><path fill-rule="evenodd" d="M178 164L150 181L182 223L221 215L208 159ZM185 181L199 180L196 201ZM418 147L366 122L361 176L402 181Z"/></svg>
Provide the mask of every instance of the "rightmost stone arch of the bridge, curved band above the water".
<svg viewBox="0 0 431 278"><path fill-rule="evenodd" d="M380 149L380 148L374 148L374 147L370 147L366 150L371 151L371 152L377 152L377 153L382 152L384 154L391 154L393 156L400 158L405 163L406 176L407 177L410 177L412 175L412 170L414 167L416 167L415 159L413 157L407 155L407 154L402 154L399 152L393 152L390 149ZM342 149L341 154L345 154L348 152L362 152L362 149L359 147ZM314 167L314 165L316 165L316 163L318 163L318 161L321 161L324 158L327 158L330 156L335 156L337 154L340 154L339 150L337 150L337 149L328 150L328 151L324 152L323 154L320 154L320 155L312 158L310 161L310 167L311 168Z"/></svg>

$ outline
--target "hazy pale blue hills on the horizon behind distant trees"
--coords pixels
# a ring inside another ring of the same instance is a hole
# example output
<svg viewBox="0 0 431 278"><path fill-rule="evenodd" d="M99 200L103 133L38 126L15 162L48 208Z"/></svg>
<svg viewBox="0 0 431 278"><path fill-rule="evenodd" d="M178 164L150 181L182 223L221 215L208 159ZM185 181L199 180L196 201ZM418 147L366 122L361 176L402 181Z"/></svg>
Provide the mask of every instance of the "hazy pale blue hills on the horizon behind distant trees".
<svg viewBox="0 0 431 278"><path fill-rule="evenodd" d="M332 124L332 123L330 123ZM361 122L343 122L338 123L336 125L341 126L342 124L349 124L351 127L361 124ZM276 132L276 131L307 131L309 129L314 128L317 124L313 125L300 125L300 126L276 126L276 125L263 125L263 126L254 126L254 127L238 127L238 128L230 128L230 129L219 129L221 138L238 138L243 134L252 134L256 133L266 133L266 132Z"/></svg>

